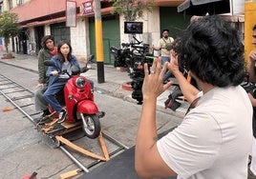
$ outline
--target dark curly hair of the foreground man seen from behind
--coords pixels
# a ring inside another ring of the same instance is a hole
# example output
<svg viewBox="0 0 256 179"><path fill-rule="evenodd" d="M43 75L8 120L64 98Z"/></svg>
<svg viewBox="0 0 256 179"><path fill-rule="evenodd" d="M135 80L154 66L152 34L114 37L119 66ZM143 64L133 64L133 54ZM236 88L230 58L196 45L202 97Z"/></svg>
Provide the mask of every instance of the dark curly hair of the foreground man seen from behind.
<svg viewBox="0 0 256 179"><path fill-rule="evenodd" d="M243 82L243 44L238 31L221 17L205 16L191 22L179 43L181 63L204 83L227 87Z"/></svg>

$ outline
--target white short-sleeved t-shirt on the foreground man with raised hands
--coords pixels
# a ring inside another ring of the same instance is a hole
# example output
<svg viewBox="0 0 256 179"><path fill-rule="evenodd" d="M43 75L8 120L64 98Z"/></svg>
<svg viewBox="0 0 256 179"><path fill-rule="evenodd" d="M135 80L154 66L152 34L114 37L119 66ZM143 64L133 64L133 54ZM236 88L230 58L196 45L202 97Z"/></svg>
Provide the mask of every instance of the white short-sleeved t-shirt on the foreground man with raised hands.
<svg viewBox="0 0 256 179"><path fill-rule="evenodd" d="M252 107L242 87L206 92L157 147L181 179L245 179L252 142Z"/></svg>

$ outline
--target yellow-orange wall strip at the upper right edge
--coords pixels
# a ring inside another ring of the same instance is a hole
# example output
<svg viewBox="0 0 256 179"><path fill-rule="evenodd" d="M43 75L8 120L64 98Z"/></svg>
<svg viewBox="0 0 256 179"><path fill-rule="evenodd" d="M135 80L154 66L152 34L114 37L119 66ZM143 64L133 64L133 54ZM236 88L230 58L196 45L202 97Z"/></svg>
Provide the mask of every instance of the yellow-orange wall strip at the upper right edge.
<svg viewBox="0 0 256 179"><path fill-rule="evenodd" d="M256 1L245 2L245 61L248 54L254 49L252 45L252 28L256 25Z"/></svg>

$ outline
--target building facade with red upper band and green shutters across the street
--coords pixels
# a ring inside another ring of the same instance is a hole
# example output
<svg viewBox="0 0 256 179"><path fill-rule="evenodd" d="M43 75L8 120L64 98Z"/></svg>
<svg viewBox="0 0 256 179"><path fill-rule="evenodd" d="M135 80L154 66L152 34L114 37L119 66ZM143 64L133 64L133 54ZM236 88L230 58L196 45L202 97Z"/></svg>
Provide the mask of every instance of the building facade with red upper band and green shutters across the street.
<svg viewBox="0 0 256 179"><path fill-rule="evenodd" d="M71 16L67 18L70 10L67 2L66 0L0 0L0 10L17 13L19 23L23 28L19 36L11 39L10 49L19 53L36 55L41 48L41 38L52 34L56 44L60 40L69 40L78 58L95 54L96 31L92 11L93 0L71 1L75 6L73 7L75 20L69 19ZM163 29L169 29L170 36L176 38L187 27L192 17L192 15L177 12L177 7L184 0L155 0L155 2L153 12L145 11L143 19L139 19L143 22L143 33L137 35L139 40L150 45L158 44L160 31ZM121 43L129 41L129 35L123 32L123 17L113 14L112 10L111 3L101 1L105 64L114 63L109 52L111 46L118 48ZM233 13L226 15L232 16ZM72 27L67 26L68 21L73 21ZM238 28L242 30L243 25L240 24Z"/></svg>

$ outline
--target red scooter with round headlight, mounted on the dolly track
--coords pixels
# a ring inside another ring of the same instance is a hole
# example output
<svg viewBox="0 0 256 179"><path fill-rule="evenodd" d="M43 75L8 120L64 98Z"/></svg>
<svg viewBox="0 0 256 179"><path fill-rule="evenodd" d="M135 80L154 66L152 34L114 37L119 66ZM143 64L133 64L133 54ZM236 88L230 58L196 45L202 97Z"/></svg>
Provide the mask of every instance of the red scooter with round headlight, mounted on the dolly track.
<svg viewBox="0 0 256 179"><path fill-rule="evenodd" d="M93 56L90 57L91 60L92 58ZM45 61L44 65L55 67L51 60ZM74 130L73 128L76 129L82 125L86 136L92 139L98 137L101 129L99 118L103 117L105 112L97 109L96 103L94 102L94 89L92 89L90 81L86 77L79 75L87 70L89 70L87 64L81 70L75 66L72 67L72 75L67 71L58 70L59 73L66 73L70 76L63 91L59 92L56 96L59 102L64 101L67 115L61 125L52 122L54 125L50 126L53 128L46 130L46 134L60 135L63 132L67 133L66 130ZM62 103L60 102L60 104ZM52 116L52 118L57 117L53 112L49 116Z"/></svg>

